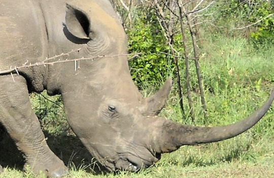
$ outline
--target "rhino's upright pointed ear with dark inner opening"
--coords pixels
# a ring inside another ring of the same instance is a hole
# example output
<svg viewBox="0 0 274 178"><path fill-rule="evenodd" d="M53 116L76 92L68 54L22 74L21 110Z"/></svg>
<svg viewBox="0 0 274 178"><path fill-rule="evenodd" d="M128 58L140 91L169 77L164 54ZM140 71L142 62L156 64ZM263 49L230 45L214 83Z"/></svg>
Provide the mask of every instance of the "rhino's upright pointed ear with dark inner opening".
<svg viewBox="0 0 274 178"><path fill-rule="evenodd" d="M75 37L90 39L90 20L82 10L66 4L65 24L68 31Z"/></svg>

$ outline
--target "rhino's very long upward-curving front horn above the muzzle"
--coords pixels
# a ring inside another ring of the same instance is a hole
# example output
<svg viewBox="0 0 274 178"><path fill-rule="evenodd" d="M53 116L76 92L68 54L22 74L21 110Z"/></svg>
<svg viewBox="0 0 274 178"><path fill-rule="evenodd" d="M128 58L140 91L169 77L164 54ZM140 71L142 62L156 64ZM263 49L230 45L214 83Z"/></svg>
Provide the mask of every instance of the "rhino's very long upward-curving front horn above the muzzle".
<svg viewBox="0 0 274 178"><path fill-rule="evenodd" d="M225 140L237 136L254 126L267 112L274 100L274 89L268 100L253 114L235 124L217 127L180 125L170 120L157 123L160 135L154 140L157 153L169 153L182 145L195 145ZM155 121L157 122L157 121ZM158 125L159 124L159 125ZM161 126L160 126L161 125Z"/></svg>

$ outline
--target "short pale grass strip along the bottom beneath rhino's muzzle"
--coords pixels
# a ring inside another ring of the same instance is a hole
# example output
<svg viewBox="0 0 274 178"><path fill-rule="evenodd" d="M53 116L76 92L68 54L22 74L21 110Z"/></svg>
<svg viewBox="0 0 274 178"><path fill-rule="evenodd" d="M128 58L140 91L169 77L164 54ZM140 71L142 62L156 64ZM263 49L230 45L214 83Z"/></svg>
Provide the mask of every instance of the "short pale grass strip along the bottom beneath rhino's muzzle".
<svg viewBox="0 0 274 178"><path fill-rule="evenodd" d="M272 146L273 147L273 144ZM174 153L172 156L179 156L181 150ZM258 157L256 161L241 161L234 160L232 162L222 162L220 164L197 166L195 164L181 165L180 163L164 162L163 160L158 162L148 170L142 170L136 173L130 172L118 172L117 174L98 174L94 175L81 168L71 168L70 175L65 176L67 178L78 177L273 177L274 172L274 156L262 155ZM29 172L23 173L21 171L5 168L4 173L0 174L0 177L38 177ZM41 176L43 177L43 176Z"/></svg>

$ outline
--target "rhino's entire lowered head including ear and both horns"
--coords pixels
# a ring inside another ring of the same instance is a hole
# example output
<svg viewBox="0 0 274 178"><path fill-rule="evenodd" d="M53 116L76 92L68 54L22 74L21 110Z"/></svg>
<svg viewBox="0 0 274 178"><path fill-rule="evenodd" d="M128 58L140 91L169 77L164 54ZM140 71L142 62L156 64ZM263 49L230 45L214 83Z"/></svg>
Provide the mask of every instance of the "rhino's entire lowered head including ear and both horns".
<svg viewBox="0 0 274 178"><path fill-rule="evenodd" d="M143 98L131 79L125 55L127 37L110 2L79 2L66 5L63 31L72 43L82 45L71 57L101 57L80 61L77 70L75 64L66 63L58 70L53 66L52 71L58 71L56 88L62 94L68 123L109 170L136 171L182 145L234 137L255 125L270 107L274 92L250 117L221 127L181 125L157 116L172 80L168 78L154 96Z"/></svg>

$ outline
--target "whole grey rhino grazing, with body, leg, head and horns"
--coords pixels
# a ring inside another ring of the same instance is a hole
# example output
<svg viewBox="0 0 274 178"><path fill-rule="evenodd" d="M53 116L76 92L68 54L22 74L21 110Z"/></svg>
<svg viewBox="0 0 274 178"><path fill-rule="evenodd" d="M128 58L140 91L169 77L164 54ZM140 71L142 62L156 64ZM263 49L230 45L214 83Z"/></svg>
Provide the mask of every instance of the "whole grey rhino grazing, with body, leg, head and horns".
<svg viewBox="0 0 274 178"><path fill-rule="evenodd" d="M0 71L36 63L72 49L61 60L127 54L127 37L107 0L2 0L0 4ZM157 114L171 87L144 99L131 80L127 56L37 66L20 75L0 75L0 122L16 142L33 172L66 174L49 149L28 94L61 94L67 122L89 152L109 170L135 171L158 161L161 153L181 145L231 138L255 125L270 107L274 93L253 115L221 127L180 125Z"/></svg>

